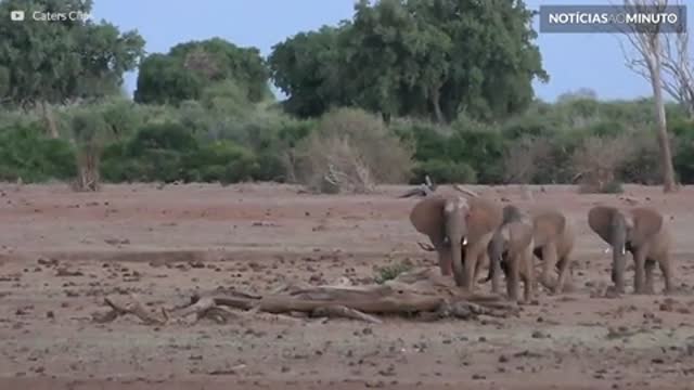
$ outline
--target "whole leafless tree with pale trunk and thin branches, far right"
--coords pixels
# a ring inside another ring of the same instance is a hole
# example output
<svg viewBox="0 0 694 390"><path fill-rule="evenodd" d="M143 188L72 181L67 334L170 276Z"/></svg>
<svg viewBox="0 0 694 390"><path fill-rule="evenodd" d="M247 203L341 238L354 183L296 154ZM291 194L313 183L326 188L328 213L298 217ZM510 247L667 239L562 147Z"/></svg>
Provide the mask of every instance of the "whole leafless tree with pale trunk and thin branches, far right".
<svg viewBox="0 0 694 390"><path fill-rule="evenodd" d="M628 12L646 13L648 11L658 10L665 11L668 2L667 0L625 0L625 10ZM640 74L646 77L651 81L653 88L653 99L655 101L657 127L658 127L658 146L660 147L661 169L663 169L663 190L668 192L677 191L677 183L674 182L674 168L672 167L672 153L670 151L670 140L667 130L667 118L665 114L665 101L663 99L663 68L664 53L667 46L666 31L661 31L661 24L650 25L647 28L644 26L631 26L631 30L624 31L625 37L629 40L632 49L637 51L637 57L633 58L626 53L627 65L642 66ZM637 67L639 68L639 67Z"/></svg>

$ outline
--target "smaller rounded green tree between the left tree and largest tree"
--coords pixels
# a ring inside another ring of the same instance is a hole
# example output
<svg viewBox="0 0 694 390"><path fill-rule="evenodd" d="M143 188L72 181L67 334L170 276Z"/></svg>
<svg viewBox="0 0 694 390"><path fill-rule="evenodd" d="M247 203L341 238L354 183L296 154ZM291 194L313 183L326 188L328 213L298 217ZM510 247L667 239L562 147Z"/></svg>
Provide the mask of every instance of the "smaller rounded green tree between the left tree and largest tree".
<svg viewBox="0 0 694 390"><path fill-rule="evenodd" d="M190 41L168 54L142 61L134 100L140 103L178 104L197 100L220 81L233 81L249 102L270 96L269 73L256 48L239 48L221 38Z"/></svg>

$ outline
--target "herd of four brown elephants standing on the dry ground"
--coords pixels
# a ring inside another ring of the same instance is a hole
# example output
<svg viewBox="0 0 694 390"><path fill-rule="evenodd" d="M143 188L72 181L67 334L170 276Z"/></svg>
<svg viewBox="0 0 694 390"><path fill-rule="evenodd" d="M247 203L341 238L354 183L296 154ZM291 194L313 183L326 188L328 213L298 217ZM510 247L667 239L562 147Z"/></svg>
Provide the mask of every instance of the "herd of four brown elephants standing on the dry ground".
<svg viewBox="0 0 694 390"><path fill-rule="evenodd" d="M492 292L500 292L505 275L510 300L531 302L539 282L556 294L565 290L574 249L575 225L558 209L524 210L492 199L460 195L432 195L414 205L410 221L432 245L420 246L438 255L442 275L453 274L455 284L473 292L479 270L489 264L486 278ZM625 258L633 257L635 294L654 294L653 271L658 263L665 280L665 294L672 291L670 243L666 218L651 207L617 208L594 206L588 211L590 229L611 245L613 253L611 287L625 292ZM536 258L542 271L536 277ZM557 272L556 280L551 273ZM518 298L524 284L523 301Z"/></svg>

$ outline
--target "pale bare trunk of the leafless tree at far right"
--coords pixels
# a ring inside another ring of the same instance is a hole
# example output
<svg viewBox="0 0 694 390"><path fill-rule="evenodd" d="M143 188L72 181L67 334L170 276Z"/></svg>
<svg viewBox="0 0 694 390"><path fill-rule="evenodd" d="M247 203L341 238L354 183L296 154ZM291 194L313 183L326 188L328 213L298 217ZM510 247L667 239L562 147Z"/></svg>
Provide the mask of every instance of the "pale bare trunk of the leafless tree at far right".
<svg viewBox="0 0 694 390"><path fill-rule="evenodd" d="M666 193L677 191L674 182L674 168L672 167L672 153L670 152L670 140L668 138L667 119L665 116L665 102L663 101L663 84L660 80L660 57L659 37L650 38L653 52L647 57L648 70L651 73L651 84L653 87L653 98L655 100L658 116L658 146L660 147L660 165L663 167L663 191Z"/></svg>

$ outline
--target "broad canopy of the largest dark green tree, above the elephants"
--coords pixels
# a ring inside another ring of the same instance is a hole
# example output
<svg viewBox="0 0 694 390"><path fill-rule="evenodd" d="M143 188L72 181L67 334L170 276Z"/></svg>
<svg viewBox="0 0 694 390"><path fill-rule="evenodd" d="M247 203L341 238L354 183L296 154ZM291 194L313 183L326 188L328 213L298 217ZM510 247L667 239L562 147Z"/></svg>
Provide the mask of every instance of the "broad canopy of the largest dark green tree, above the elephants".
<svg viewBox="0 0 694 390"><path fill-rule="evenodd" d="M500 118L549 78L532 15L523 1L361 0L351 21L278 43L268 63L299 116L357 105L386 118Z"/></svg>

